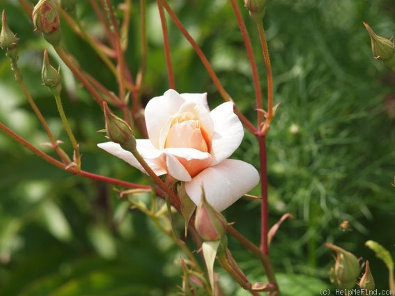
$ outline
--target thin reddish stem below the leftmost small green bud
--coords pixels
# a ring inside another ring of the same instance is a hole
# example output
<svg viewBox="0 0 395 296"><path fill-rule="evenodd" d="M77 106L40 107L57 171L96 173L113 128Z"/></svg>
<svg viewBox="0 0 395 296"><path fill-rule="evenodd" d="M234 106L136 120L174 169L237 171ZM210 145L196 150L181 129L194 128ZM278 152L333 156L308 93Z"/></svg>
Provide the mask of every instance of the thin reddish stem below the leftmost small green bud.
<svg viewBox="0 0 395 296"><path fill-rule="evenodd" d="M20 74L20 69L18 68L17 61L15 59L10 59L11 61L11 68L13 69L15 79L17 80L17 83L20 84L20 87L22 88L22 91L28 100L31 109L33 109L34 113L36 114L38 120L40 120L40 123L45 129L45 132L47 132L47 135L49 137L49 141L51 141L51 146L54 148L56 153L61 157L62 161L67 164L69 162L69 159L65 157L65 155L61 152L61 149L59 148L58 142L55 140L54 135L52 134L51 130L49 129L49 125L47 121L45 120L44 116L42 116L40 109L38 109L36 103L33 101L33 98L31 98L31 95L29 91L27 90L23 80L22 76Z"/></svg>

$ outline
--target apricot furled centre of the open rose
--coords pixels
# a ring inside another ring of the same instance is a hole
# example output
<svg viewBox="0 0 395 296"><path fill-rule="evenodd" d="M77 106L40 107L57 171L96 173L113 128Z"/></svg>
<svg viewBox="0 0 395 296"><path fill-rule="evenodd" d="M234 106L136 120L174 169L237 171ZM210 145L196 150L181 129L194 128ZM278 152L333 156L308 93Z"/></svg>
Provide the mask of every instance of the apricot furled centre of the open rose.
<svg viewBox="0 0 395 296"><path fill-rule="evenodd" d="M193 113L184 112L171 121L164 148L194 148L208 152L210 140L200 120Z"/></svg>

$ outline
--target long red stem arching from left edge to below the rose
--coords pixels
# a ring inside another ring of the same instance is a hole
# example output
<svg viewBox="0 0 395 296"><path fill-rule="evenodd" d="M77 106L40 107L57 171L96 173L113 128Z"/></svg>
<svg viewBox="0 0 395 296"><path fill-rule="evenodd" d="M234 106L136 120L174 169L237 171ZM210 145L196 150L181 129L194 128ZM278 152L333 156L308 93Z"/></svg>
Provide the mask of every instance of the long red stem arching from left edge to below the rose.
<svg viewBox="0 0 395 296"><path fill-rule="evenodd" d="M41 157L45 161L49 162L50 164L57 166L59 169L62 169L63 171L68 171L69 173L72 173L74 175L82 176L85 178L89 178L92 180L97 180L100 182L106 182L109 184L113 185L118 185L122 187L127 187L127 188L139 188L139 189L150 189L149 186L146 185L139 185L131 182L126 182L123 180L118 180L114 178L109 178L101 175L97 175L95 173L89 173L88 171L77 171L75 167L73 166L68 166L67 164L63 164L63 162L59 162L59 160L54 159L54 157L51 157L47 155L47 153L44 153L42 150L38 149L37 147L33 146L31 143L20 137L19 135L15 134L13 130L10 130L6 125L3 125L3 123L0 123L0 130L3 130L3 132L6 132L8 136L13 138L15 141L19 142L22 144L22 146L28 148L33 152L34 154L38 155L38 157Z"/></svg>

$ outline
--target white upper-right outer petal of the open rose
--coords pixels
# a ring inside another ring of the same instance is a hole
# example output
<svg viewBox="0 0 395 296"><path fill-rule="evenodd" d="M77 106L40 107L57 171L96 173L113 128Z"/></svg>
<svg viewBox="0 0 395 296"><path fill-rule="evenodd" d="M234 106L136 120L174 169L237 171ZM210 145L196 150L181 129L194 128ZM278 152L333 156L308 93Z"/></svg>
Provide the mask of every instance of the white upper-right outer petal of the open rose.
<svg viewBox="0 0 395 296"><path fill-rule="evenodd" d="M214 166L228 158L240 146L244 130L238 116L233 113L233 103L225 102L210 112L214 121L214 134L210 154Z"/></svg>

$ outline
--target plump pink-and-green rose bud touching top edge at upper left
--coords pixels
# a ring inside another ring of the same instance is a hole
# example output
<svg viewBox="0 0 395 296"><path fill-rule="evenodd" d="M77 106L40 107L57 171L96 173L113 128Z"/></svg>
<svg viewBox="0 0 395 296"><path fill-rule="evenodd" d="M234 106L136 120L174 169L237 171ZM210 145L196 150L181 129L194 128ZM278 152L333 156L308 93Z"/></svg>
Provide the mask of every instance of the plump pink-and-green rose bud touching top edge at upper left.
<svg viewBox="0 0 395 296"><path fill-rule="evenodd" d="M61 40L61 20L58 10L52 0L40 0L34 6L33 13L34 27L42 33L45 40L53 45L57 45Z"/></svg>

